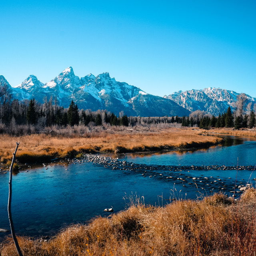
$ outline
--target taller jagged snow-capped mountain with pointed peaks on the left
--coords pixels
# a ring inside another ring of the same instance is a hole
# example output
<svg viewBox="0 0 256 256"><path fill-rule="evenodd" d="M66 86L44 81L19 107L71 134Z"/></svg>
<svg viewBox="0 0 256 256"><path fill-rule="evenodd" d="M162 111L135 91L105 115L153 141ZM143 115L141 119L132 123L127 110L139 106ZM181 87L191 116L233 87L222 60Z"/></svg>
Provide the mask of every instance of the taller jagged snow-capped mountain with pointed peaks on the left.
<svg viewBox="0 0 256 256"><path fill-rule="evenodd" d="M3 84L8 83L3 76L0 76L0 82L1 79ZM43 103L46 97L48 100L57 97L58 104L64 108L68 108L74 100L80 109L106 109L115 114L123 110L128 116L183 116L190 113L170 99L147 94L125 82L117 82L108 73L79 78L72 67L66 68L46 84L30 75L11 89L13 97L19 100L35 98Z"/></svg>

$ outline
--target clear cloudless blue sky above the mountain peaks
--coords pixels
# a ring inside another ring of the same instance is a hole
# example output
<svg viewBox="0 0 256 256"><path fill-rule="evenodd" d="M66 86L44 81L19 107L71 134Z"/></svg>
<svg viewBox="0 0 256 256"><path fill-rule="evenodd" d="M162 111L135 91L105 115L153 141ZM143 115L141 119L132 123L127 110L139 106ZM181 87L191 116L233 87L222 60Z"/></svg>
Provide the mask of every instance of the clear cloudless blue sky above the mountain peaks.
<svg viewBox="0 0 256 256"><path fill-rule="evenodd" d="M12 86L68 66L158 96L220 87L256 97L256 1L1 1L0 74Z"/></svg>

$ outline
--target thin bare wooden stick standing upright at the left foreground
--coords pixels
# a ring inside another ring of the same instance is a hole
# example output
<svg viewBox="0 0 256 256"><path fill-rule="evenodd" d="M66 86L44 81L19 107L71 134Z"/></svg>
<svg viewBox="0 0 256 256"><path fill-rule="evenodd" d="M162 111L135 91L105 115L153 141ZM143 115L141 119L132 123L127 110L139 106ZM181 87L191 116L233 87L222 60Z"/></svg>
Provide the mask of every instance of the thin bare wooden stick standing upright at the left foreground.
<svg viewBox="0 0 256 256"><path fill-rule="evenodd" d="M9 221L10 221L10 227L11 227L11 232L12 232L12 238L14 241L14 244L16 246L17 252L19 254L19 256L23 256L21 250L20 250L20 246L18 243L18 240L16 238L15 232L14 232L14 225L13 225L13 221L12 221L12 212L11 212L11 204L12 204L12 167L15 161L15 156L16 156L16 152L18 150L18 146L20 144L20 142L16 142L17 146L16 146L16 150L13 153L13 158L12 158L12 164L10 166L10 180L9 180L9 198L8 198L8 217L9 217Z"/></svg>

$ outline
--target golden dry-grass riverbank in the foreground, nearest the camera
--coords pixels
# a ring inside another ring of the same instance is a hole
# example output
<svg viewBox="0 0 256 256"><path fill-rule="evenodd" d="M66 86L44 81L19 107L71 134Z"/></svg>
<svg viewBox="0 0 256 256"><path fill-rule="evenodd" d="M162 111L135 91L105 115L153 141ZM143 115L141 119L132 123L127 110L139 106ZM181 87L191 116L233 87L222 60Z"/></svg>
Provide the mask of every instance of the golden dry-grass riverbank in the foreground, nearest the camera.
<svg viewBox="0 0 256 256"><path fill-rule="evenodd" d="M128 210L111 218L72 225L49 240L18 241L26 256L254 255L255 200L254 188L237 203L223 194L164 207L131 200ZM11 238L2 244L1 255L17 255Z"/></svg>

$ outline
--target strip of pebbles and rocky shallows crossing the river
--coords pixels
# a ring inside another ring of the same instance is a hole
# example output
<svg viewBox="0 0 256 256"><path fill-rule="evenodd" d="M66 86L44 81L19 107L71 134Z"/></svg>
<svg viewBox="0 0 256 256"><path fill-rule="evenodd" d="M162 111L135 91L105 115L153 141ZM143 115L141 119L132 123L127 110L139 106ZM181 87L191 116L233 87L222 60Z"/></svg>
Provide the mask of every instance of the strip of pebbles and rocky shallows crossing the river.
<svg viewBox="0 0 256 256"><path fill-rule="evenodd" d="M135 164L118 158L106 156L85 154L83 158L69 160L72 162L92 162L99 164L105 168L112 170L122 170L126 174L141 173L145 178L166 179L175 184L182 184L184 187L197 186L198 192L225 192L227 196L236 197L240 195L246 188L252 186L247 180L234 180L231 177L220 178L221 173L226 170L254 170L254 166L161 166L161 165L146 165ZM220 172L218 176L205 176L200 174L200 171L216 170ZM196 175L195 175L196 171ZM190 175L193 172L193 175ZM256 178L251 177L251 180Z"/></svg>

